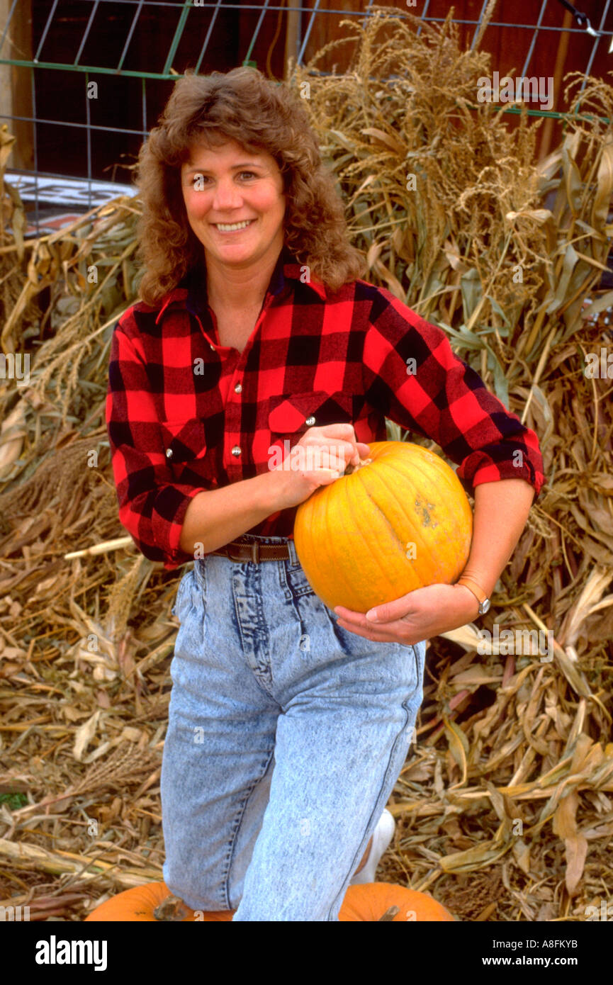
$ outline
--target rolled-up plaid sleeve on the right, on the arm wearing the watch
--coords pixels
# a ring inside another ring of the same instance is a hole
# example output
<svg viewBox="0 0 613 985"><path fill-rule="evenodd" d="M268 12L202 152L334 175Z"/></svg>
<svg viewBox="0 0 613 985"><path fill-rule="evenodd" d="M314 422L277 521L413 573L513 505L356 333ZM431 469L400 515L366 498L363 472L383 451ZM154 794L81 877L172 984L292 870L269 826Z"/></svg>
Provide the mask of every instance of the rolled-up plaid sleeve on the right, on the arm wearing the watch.
<svg viewBox="0 0 613 985"><path fill-rule="evenodd" d="M378 292L364 343L365 392L390 421L432 438L458 465L468 493L481 483L544 483L536 433L457 357L443 330L389 292Z"/></svg>

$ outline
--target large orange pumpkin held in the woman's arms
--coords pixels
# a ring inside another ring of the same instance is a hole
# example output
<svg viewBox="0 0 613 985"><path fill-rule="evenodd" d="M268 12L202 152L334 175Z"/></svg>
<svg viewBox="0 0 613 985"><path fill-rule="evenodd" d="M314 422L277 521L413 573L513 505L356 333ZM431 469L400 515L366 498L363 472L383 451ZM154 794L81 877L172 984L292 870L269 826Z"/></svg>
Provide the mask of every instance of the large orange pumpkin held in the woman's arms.
<svg viewBox="0 0 613 985"><path fill-rule="evenodd" d="M470 553L472 510L443 458L408 441L370 448L296 511L296 552L329 609L366 613L416 588L450 585Z"/></svg>

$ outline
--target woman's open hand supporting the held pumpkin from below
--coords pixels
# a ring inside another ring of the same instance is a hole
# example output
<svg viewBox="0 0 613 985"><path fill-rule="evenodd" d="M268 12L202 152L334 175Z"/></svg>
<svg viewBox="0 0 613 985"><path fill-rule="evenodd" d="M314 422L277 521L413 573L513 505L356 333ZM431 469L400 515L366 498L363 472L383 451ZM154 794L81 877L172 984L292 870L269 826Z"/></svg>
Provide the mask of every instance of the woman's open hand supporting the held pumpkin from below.
<svg viewBox="0 0 613 985"><path fill-rule="evenodd" d="M344 606L335 606L334 612L339 625L358 636L411 645L472 622L479 614L479 603L466 585L428 585L370 609L378 617L376 622L368 619L368 613L365 616Z"/></svg>

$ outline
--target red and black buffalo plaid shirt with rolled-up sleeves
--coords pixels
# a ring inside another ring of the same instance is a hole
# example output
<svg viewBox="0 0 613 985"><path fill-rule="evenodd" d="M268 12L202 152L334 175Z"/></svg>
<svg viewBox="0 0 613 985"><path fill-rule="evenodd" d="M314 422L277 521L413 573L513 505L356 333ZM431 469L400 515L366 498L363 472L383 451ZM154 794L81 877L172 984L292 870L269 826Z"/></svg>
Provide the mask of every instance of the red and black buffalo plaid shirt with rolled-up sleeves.
<svg viewBox="0 0 613 985"><path fill-rule="evenodd" d="M359 441L386 440L385 418L434 438L468 493L519 478L536 499L545 482L534 431L442 329L367 281L328 296L286 247L242 353L219 344L205 273L114 326L106 423L119 519L169 570L193 559L179 535L196 493L266 472L271 446L312 425L349 422ZM292 537L296 509L247 533Z"/></svg>

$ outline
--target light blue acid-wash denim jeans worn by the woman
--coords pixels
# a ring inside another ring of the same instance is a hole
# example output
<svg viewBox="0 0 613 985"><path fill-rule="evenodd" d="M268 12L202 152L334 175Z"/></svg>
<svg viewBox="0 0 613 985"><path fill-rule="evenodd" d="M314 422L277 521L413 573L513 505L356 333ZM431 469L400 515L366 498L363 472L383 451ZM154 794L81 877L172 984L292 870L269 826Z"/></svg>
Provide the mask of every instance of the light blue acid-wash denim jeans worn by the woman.
<svg viewBox="0 0 613 985"><path fill-rule="evenodd" d="M208 555L172 613L162 764L164 880L234 920L338 920L402 769L422 700L425 642L338 625L291 558Z"/></svg>

